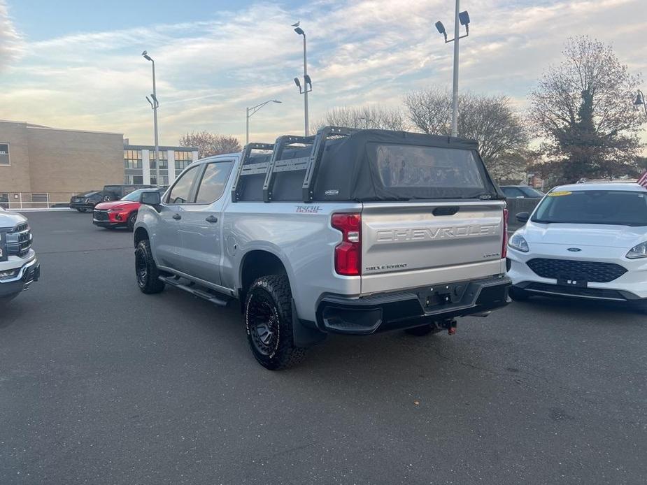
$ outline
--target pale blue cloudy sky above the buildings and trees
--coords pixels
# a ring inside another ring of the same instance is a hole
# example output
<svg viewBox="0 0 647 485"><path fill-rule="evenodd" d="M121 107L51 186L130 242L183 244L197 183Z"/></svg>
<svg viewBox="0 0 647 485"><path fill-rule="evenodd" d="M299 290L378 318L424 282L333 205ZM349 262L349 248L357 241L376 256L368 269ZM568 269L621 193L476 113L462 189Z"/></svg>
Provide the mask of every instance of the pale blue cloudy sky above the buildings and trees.
<svg viewBox="0 0 647 485"><path fill-rule="evenodd" d="M522 109L571 35L611 43L647 78L646 0L463 0L461 89L510 96ZM397 106L404 92L450 87L450 0L0 0L0 119L125 133L152 143L148 50L157 65L160 143L206 129L244 138L245 108L266 99L252 138L303 129L303 68L311 120L329 108ZM647 85L643 89L647 91ZM647 137L646 137L647 139Z"/></svg>

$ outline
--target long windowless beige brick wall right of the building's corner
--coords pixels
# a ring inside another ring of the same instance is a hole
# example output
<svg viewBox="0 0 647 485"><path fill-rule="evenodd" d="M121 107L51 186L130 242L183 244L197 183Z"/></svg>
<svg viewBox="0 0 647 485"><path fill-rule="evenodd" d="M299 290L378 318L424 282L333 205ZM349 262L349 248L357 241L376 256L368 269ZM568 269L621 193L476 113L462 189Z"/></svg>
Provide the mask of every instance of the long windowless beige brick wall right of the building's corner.
<svg viewBox="0 0 647 485"><path fill-rule="evenodd" d="M124 181L124 137L27 126L31 192L82 192Z"/></svg>

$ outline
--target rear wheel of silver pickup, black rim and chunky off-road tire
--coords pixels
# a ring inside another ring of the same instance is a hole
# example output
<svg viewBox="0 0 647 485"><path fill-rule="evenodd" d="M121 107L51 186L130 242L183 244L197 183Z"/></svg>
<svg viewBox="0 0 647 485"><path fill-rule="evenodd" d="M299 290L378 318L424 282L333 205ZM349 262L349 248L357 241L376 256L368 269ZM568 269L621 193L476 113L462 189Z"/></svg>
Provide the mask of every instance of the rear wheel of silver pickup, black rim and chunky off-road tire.
<svg viewBox="0 0 647 485"><path fill-rule="evenodd" d="M243 308L247 340L252 354L266 369L285 369L306 356L305 349L294 346L291 301L292 291L286 275L260 277L247 292ZM259 331L263 326L268 342L262 340Z"/></svg>

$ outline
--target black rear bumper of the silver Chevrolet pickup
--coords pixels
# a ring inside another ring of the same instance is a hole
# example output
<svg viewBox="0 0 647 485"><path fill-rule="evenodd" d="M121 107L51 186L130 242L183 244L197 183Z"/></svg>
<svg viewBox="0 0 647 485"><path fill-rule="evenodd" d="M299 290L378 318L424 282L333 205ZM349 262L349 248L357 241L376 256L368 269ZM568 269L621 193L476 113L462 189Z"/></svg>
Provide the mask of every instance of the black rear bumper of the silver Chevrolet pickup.
<svg viewBox="0 0 647 485"><path fill-rule="evenodd" d="M499 276L363 298L327 295L317 307L317 326L353 335L412 328L503 307L510 286L509 277Z"/></svg>

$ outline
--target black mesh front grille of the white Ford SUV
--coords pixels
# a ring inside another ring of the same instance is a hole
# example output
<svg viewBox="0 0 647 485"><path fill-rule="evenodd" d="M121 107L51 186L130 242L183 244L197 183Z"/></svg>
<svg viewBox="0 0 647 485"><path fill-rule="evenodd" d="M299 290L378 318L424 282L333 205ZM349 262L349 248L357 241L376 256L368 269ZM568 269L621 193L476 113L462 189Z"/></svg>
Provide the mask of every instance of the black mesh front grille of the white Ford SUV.
<svg viewBox="0 0 647 485"><path fill-rule="evenodd" d="M527 265L534 273L543 278L553 280L584 279L590 283L608 283L627 273L627 268L623 268L623 266L598 261L535 258L528 261Z"/></svg>

